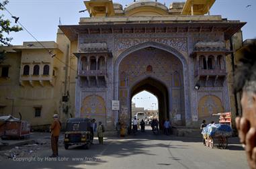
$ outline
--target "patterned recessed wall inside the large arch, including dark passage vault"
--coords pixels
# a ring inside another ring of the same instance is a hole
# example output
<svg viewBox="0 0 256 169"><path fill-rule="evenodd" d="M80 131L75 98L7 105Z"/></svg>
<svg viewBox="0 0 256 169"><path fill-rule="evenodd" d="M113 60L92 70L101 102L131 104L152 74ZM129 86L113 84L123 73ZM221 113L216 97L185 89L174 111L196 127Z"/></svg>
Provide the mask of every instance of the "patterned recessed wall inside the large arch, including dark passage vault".
<svg viewBox="0 0 256 169"><path fill-rule="evenodd" d="M171 118L175 124L185 125L181 61L167 52L167 49L157 48L158 44L156 43L140 44L139 46L145 46L145 48L134 49L135 51L125 58L120 58L122 60L118 66L120 81L118 94L121 110L128 109L131 112L131 98L140 91L147 90L157 95L159 99L159 121L161 123L164 119Z"/></svg>

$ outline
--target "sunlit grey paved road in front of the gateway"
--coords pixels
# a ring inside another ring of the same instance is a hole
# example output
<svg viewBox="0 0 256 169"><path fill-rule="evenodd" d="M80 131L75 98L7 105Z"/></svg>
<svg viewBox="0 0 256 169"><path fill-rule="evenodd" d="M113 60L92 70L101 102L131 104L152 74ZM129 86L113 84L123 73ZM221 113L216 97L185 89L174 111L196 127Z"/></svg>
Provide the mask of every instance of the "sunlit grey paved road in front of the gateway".
<svg viewBox="0 0 256 169"><path fill-rule="evenodd" d="M200 141L146 131L124 139L105 138L104 145L97 145L95 140L89 150L64 150L62 146L56 161L48 158L50 150L42 150L39 158L30 159L32 162L4 160L0 168L248 168L243 148L235 144L236 139L230 140L227 150L206 148Z"/></svg>

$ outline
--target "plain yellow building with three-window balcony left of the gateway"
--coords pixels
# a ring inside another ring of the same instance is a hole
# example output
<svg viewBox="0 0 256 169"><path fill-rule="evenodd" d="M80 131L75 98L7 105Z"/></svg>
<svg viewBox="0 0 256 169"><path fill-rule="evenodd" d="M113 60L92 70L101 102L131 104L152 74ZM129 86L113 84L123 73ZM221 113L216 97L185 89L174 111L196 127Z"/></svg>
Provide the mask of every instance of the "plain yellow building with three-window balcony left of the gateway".
<svg viewBox="0 0 256 169"><path fill-rule="evenodd" d="M63 122L70 117L75 109L72 91L77 71L69 66L76 68L77 63L73 61L75 56L69 55L69 44L67 37L58 32L56 42L0 46L5 52L0 64L0 115L20 117L20 113L34 129L44 130L55 113Z"/></svg>

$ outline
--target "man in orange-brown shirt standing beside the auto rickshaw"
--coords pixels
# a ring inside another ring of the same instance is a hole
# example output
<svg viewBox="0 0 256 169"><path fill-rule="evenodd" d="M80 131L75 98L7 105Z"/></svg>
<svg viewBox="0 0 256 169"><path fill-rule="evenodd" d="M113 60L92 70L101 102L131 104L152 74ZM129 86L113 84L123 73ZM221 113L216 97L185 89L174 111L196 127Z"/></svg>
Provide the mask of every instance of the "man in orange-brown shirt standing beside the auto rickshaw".
<svg viewBox="0 0 256 169"><path fill-rule="evenodd" d="M51 131L51 145L52 145L52 156L50 157L56 157L58 156L58 137L60 135L60 128L61 128L61 123L58 120L58 115L54 114L53 115L54 121L52 122L52 125L50 126L50 131Z"/></svg>

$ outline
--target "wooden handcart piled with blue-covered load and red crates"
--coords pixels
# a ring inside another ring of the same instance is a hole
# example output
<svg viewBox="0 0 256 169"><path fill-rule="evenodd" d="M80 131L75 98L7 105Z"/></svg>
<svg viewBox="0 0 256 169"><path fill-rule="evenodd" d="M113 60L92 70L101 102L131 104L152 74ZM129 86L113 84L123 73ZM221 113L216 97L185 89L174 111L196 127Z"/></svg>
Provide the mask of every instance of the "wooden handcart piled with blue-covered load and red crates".
<svg viewBox="0 0 256 169"><path fill-rule="evenodd" d="M219 123L208 124L202 130L202 135L205 139L206 146L214 148L226 149L228 146L228 137L232 135L231 127L231 112L217 113L213 115L218 115Z"/></svg>

